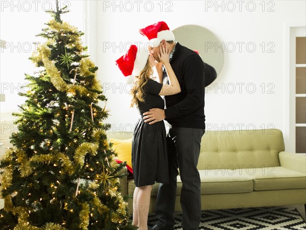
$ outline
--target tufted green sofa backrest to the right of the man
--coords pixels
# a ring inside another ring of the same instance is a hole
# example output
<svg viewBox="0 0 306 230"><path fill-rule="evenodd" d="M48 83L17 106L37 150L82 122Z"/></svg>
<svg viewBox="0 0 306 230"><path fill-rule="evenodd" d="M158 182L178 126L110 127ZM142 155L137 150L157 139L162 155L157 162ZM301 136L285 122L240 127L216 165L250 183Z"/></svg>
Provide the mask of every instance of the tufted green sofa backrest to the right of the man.
<svg viewBox="0 0 306 230"><path fill-rule="evenodd" d="M277 129L207 131L202 136L197 168L277 167L278 153L284 149L283 133Z"/></svg>

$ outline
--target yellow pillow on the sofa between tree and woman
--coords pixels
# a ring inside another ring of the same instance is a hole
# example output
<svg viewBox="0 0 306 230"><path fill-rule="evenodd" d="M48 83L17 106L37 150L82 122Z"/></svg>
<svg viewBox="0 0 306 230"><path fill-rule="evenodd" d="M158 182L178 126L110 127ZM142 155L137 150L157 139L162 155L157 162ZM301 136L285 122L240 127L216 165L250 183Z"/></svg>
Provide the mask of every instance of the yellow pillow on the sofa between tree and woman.
<svg viewBox="0 0 306 230"><path fill-rule="evenodd" d="M113 150L117 153L117 158L126 162L126 165L132 169L132 138L127 140L110 138L110 142L113 143Z"/></svg>

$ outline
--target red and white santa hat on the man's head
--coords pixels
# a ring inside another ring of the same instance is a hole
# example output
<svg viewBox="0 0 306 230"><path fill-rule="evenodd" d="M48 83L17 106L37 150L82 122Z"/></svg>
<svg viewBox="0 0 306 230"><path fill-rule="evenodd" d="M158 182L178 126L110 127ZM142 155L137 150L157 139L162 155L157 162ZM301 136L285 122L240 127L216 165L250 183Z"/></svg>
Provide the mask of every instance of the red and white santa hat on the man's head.
<svg viewBox="0 0 306 230"><path fill-rule="evenodd" d="M174 41L175 39L174 34L164 21L140 29L139 32L152 42L153 47L158 47L162 40Z"/></svg>

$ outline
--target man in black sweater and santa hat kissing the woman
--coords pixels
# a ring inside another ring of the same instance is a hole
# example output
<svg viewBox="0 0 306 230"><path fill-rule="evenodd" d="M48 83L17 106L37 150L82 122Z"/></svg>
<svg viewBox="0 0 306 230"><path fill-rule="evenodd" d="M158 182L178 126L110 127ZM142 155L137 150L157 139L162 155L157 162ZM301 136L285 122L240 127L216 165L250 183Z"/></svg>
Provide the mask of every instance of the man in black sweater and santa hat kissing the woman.
<svg viewBox="0 0 306 230"><path fill-rule="evenodd" d="M160 62L159 46L169 49L170 64L181 86L181 93L165 97L166 109L152 108L143 113L143 119L149 124L165 119L171 125L167 136L170 182L160 184L155 209L158 222L150 229L173 229L178 169L183 183L180 200L182 227L198 229L201 181L197 163L201 137L205 132L205 63L197 53L174 42L173 33L163 21L140 29L140 33L152 42L149 50L157 62ZM162 73L161 67L158 72L160 79L162 74L165 81L166 73Z"/></svg>

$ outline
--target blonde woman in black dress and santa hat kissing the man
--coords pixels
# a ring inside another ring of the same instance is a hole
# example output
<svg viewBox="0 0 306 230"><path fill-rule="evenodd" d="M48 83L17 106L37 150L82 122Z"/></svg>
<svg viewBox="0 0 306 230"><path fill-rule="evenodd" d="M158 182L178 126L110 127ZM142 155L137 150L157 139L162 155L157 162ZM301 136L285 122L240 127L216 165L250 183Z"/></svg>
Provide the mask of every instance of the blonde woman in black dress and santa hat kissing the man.
<svg viewBox="0 0 306 230"><path fill-rule="evenodd" d="M131 45L127 54L116 61L124 76L135 76L131 90L131 106L136 105L141 116L134 129L132 144L132 166L136 186L133 196L133 224L139 229L148 229L152 185L155 181L169 181L165 124L163 121L152 125L144 123L142 114L150 108L164 109L164 100L160 96L181 92L165 45L160 45L158 56L166 68L170 85L163 85L151 78L152 67L156 62L153 55L145 52L143 48L137 49L136 45Z"/></svg>

